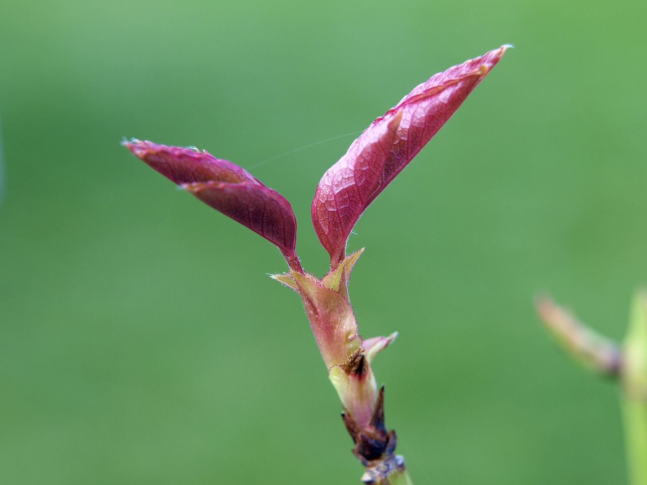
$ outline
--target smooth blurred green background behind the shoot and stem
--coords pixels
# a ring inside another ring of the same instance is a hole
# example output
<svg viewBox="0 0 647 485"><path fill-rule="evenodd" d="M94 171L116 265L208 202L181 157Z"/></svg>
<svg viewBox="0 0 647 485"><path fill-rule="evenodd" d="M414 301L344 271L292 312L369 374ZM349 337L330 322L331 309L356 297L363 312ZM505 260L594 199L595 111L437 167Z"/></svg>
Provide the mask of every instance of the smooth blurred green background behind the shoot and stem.
<svg viewBox="0 0 647 485"><path fill-rule="evenodd" d="M0 5L0 483L356 484L278 251L130 155L206 148L296 212L435 72L514 43L367 210L351 295L416 484L625 484L617 387L541 329L622 338L647 283L644 0Z"/></svg>

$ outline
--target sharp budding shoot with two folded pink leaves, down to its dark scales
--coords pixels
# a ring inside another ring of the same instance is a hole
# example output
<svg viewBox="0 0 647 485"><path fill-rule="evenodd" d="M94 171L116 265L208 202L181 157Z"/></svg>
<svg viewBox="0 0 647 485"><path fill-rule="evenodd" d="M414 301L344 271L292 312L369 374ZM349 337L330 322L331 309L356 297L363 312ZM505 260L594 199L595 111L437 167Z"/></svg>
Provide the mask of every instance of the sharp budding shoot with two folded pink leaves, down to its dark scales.
<svg viewBox="0 0 647 485"><path fill-rule="evenodd" d="M291 274L274 277L302 296L329 378L344 405L346 426L359 446L356 454L360 459L372 459L375 453L395 446L395 435L377 426L383 421L382 401L370 363L396 334L369 339L358 335L347 283L362 251L346 256L346 241L362 212L454 114L506 48L451 67L415 87L369 125L326 171L311 208L314 230L331 257L331 271L322 279L301 267L295 252L296 218L289 202L248 171L197 149L138 140L125 144L175 184L281 250ZM373 434L364 439L366 429ZM377 452L366 451L360 446L364 442L379 444L372 446Z"/></svg>

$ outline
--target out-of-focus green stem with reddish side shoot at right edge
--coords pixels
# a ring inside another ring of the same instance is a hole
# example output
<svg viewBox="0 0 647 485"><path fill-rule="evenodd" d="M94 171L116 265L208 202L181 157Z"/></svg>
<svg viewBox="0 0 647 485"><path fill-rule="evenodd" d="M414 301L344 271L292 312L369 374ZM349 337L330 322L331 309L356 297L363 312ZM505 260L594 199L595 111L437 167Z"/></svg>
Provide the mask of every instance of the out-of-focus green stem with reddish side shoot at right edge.
<svg viewBox="0 0 647 485"><path fill-rule="evenodd" d="M647 293L638 292L633 299L622 345L590 329L549 297L540 297L536 307L547 330L578 363L619 380L630 484L647 485Z"/></svg>

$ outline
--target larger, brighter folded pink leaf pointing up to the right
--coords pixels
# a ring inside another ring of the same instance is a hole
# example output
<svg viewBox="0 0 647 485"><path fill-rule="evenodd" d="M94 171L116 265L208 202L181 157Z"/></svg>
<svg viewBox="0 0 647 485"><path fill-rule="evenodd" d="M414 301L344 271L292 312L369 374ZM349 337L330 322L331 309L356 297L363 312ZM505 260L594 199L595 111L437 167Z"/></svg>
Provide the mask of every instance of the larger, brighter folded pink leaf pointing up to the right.
<svg viewBox="0 0 647 485"><path fill-rule="evenodd" d="M312 216L333 268L344 259L348 235L362 212L441 129L507 47L450 67L415 87L369 125L323 175Z"/></svg>

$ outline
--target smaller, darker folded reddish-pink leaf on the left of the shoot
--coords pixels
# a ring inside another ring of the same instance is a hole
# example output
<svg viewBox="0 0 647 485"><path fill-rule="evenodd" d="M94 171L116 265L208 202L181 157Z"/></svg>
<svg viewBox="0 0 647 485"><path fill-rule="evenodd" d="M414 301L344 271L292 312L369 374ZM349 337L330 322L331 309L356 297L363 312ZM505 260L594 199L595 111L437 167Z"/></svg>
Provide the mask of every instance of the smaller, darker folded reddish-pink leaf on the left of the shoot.
<svg viewBox="0 0 647 485"><path fill-rule="evenodd" d="M139 140L124 145L164 177L276 244L291 268L302 272L294 253L296 218L280 193L245 169L206 151Z"/></svg>

